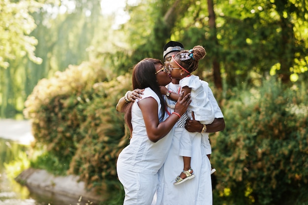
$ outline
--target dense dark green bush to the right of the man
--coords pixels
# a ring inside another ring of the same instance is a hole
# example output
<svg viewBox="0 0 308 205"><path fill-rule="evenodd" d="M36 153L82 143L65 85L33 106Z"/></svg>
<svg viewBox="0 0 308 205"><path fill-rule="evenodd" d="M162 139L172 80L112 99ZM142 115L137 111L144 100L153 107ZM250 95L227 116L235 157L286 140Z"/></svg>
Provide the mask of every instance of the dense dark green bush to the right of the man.
<svg viewBox="0 0 308 205"><path fill-rule="evenodd" d="M211 159L219 168L216 192L228 204L307 201L306 93L305 87L284 88L274 79L264 80L259 90L233 90L223 106L226 128L211 138Z"/></svg>

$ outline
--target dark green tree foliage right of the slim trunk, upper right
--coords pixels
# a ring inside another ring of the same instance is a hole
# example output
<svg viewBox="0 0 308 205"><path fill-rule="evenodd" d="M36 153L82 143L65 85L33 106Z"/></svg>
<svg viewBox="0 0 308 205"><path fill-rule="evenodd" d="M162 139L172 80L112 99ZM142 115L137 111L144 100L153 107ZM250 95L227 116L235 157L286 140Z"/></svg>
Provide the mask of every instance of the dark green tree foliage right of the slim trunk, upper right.
<svg viewBox="0 0 308 205"><path fill-rule="evenodd" d="M308 48L303 30L308 20L305 1L234 0L217 7L217 21L222 25L217 31L223 45L221 63L228 85L251 82L252 72L260 77L277 74L283 82L289 82L292 73L304 72Z"/></svg>

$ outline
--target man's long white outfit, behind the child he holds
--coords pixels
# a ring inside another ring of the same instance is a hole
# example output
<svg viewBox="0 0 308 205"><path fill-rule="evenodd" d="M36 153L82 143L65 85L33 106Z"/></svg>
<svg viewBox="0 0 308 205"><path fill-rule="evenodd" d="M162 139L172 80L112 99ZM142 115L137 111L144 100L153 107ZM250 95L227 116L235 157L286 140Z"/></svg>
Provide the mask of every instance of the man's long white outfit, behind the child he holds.
<svg viewBox="0 0 308 205"><path fill-rule="evenodd" d="M201 82L208 87L205 81ZM179 85L170 83L168 89L177 92L177 86ZM176 89L173 89L174 87ZM213 105L215 118L223 118L223 114L209 87L208 97ZM171 104L169 99L168 103ZM170 112L173 112L173 110L170 110ZM179 156L180 139L184 130L184 127L176 127L175 129L168 157L164 166L159 170L157 197L154 198L152 205L213 205L211 163L207 157L207 154L211 153L212 150L211 146L208 147L201 141L201 137L194 137L192 141L191 167L195 173L195 178L179 185L173 184L175 176L183 170L184 166L183 157ZM203 138L209 141L209 134L205 133L205 135L207 138Z"/></svg>

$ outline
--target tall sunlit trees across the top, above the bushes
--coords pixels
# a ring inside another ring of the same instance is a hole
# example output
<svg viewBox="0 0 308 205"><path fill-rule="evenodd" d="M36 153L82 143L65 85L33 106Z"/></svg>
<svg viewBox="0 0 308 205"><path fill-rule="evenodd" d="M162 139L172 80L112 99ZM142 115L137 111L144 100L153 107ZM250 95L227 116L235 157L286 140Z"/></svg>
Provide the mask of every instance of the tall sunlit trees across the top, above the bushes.
<svg viewBox="0 0 308 205"><path fill-rule="evenodd" d="M249 83L251 71L284 82L307 79L305 0L214 1L216 27L209 25L208 0L144 0L128 4L130 19L117 29L115 14L101 15L99 1L70 1L74 8L64 0L38 2L44 6L34 0L0 4L0 64L7 67L0 69L1 117L22 110L37 81L57 70L99 59L113 68L108 75L123 75L143 58L161 59L170 39L186 48L205 46L208 54L195 74L217 87Z"/></svg>

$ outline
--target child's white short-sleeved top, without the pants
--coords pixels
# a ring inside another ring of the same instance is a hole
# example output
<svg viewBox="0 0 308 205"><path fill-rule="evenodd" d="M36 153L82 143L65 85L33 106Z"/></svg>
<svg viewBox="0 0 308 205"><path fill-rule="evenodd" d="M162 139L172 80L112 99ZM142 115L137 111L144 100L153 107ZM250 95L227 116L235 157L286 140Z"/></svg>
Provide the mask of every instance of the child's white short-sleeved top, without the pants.
<svg viewBox="0 0 308 205"><path fill-rule="evenodd" d="M201 81L199 76L190 75L180 80L180 87L191 88L191 103L187 112L194 112L195 120L204 122L202 124L211 124L214 121L215 113L212 103L208 97L209 84Z"/></svg>

